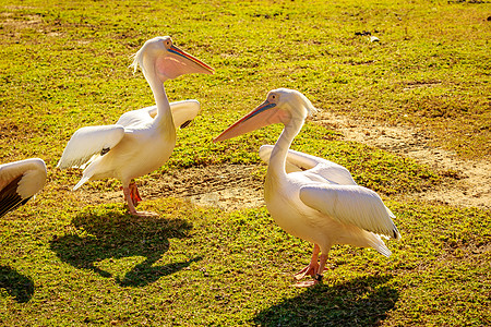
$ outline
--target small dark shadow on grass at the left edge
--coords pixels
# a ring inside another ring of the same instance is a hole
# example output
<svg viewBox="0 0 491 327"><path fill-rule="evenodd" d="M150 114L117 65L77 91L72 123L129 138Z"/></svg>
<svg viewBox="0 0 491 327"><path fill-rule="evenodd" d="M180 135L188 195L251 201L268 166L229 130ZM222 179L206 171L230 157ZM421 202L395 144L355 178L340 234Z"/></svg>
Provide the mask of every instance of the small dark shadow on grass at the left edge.
<svg viewBox="0 0 491 327"><path fill-rule="evenodd" d="M20 303L29 301L34 294L33 280L8 266L0 266L0 288Z"/></svg>

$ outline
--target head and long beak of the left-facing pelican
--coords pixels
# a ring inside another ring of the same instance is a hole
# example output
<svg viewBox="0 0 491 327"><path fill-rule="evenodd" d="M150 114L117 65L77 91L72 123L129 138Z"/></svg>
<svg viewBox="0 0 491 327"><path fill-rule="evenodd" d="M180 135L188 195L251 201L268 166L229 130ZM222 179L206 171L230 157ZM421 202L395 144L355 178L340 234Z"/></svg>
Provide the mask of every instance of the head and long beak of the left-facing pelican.
<svg viewBox="0 0 491 327"><path fill-rule="evenodd" d="M273 89L264 102L225 130L213 142L232 138L274 123L303 124L306 118L315 110L312 102L298 90Z"/></svg>

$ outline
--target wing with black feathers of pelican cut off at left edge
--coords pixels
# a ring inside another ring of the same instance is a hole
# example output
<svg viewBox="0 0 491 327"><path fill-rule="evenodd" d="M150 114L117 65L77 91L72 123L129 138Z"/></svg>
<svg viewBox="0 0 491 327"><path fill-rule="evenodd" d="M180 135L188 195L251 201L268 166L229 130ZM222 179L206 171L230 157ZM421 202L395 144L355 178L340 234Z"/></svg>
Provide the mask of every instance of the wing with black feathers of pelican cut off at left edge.
<svg viewBox="0 0 491 327"><path fill-rule="evenodd" d="M0 217L24 205L46 183L46 165L32 158L0 165Z"/></svg>

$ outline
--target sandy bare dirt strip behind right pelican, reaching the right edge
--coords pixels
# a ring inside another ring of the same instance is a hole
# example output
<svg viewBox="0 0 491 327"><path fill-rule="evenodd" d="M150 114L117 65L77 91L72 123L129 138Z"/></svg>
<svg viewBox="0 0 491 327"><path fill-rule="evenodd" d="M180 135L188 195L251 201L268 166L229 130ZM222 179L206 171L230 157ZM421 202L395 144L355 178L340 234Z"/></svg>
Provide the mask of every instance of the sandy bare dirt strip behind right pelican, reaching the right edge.
<svg viewBox="0 0 491 327"><path fill-rule="evenodd" d="M364 143L400 156L407 156L419 164L441 172L456 173L451 185L440 185L422 193L407 194L440 204L491 208L491 164L464 160L454 153L434 147L432 140L422 130L410 126L383 125L374 121L358 121L333 112L322 111L314 121L340 132L345 140Z"/></svg>

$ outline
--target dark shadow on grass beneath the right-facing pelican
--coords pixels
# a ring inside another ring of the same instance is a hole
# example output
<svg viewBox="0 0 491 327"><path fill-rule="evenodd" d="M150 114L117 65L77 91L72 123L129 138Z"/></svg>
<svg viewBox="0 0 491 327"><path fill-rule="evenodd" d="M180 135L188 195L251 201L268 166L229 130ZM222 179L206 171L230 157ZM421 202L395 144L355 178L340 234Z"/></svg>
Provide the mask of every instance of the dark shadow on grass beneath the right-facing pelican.
<svg viewBox="0 0 491 327"><path fill-rule="evenodd" d="M182 219L159 217L133 217L108 211L104 215L82 213L72 221L75 231L50 242L51 250L74 267L91 269L103 277L112 275L98 263L109 259L111 268L120 268L112 259L142 256L144 261L131 268L122 278L115 276L122 286L142 287L163 276L179 271L193 262L154 266L169 249L170 238L185 238L192 225ZM119 274L115 274L119 275Z"/></svg>

